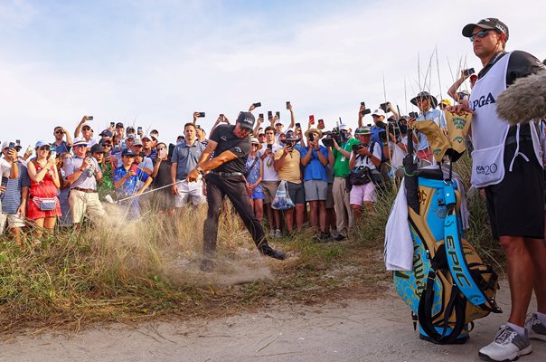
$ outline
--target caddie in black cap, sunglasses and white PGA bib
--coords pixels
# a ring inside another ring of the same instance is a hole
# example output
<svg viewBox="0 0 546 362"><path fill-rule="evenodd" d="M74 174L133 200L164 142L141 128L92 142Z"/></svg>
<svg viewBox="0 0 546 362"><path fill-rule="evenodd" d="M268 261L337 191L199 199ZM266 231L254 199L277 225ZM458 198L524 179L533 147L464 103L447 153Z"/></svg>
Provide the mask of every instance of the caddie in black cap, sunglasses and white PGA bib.
<svg viewBox="0 0 546 362"><path fill-rule="evenodd" d="M509 125L498 116L496 100L516 79L545 69L527 52L505 52L509 32L499 19L467 24L462 33L470 38L484 68L478 72L470 100L461 100L450 110L474 114L471 182L485 189L493 236L508 262L512 300L508 322L491 344L480 349L479 356L512 361L532 352L529 338L546 340L544 176L535 122ZM518 99L511 101L517 110ZM525 320L533 289L537 312Z"/></svg>

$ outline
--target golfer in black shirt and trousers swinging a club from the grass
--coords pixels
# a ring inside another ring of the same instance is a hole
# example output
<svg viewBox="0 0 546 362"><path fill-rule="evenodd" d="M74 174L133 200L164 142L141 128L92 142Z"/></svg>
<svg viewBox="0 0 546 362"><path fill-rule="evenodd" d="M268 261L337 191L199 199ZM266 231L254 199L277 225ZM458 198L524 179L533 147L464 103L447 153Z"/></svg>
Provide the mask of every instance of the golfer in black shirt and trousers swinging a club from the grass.
<svg viewBox="0 0 546 362"><path fill-rule="evenodd" d="M187 176L188 182L194 182L208 172L205 181L209 210L203 224L202 271L212 269L212 256L216 251L218 239L221 203L226 195L252 235L252 240L256 243L259 252L279 260L286 258L284 252L278 252L269 246L263 227L252 212L249 197L246 197L243 174L250 153L249 135L254 129L254 122L252 113L240 112L235 125L219 125L214 129L197 167L193 168ZM212 153L214 157L211 158Z"/></svg>

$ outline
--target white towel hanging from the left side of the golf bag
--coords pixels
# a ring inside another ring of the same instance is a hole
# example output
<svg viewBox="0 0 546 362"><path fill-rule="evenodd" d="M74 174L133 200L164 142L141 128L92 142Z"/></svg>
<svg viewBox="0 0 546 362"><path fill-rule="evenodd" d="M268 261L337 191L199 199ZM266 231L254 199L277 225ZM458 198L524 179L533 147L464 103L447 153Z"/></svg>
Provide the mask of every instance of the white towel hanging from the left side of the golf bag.
<svg viewBox="0 0 546 362"><path fill-rule="evenodd" d="M408 201L404 180L392 204L385 227L383 258L388 271L413 270L413 241L408 223Z"/></svg>

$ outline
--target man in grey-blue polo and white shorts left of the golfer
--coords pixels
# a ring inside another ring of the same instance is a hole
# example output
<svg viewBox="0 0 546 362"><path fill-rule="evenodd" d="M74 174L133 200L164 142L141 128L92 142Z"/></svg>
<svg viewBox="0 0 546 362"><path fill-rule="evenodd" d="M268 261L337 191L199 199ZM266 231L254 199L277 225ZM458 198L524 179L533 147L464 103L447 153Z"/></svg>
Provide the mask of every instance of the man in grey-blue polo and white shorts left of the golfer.
<svg viewBox="0 0 546 362"><path fill-rule="evenodd" d="M174 206L184 207L189 202L201 205L206 202L203 194L202 179L195 182L186 180L189 172L197 166L205 146L196 137L196 127L193 123L184 125L185 142L176 145L171 164L171 183L174 195Z"/></svg>

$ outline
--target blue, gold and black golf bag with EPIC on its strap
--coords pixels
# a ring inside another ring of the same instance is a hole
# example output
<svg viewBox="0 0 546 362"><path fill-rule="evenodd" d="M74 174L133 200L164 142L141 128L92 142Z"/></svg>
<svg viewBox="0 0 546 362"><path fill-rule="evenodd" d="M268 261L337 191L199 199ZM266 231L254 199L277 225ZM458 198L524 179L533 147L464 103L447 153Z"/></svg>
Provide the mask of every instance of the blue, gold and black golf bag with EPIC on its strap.
<svg viewBox="0 0 546 362"><path fill-rule="evenodd" d="M419 207L409 207L413 269L394 271L394 288L410 306L414 328L419 321L419 338L461 344L475 319L502 312L494 301L498 277L461 232L457 184L441 170L414 175L420 171Z"/></svg>

